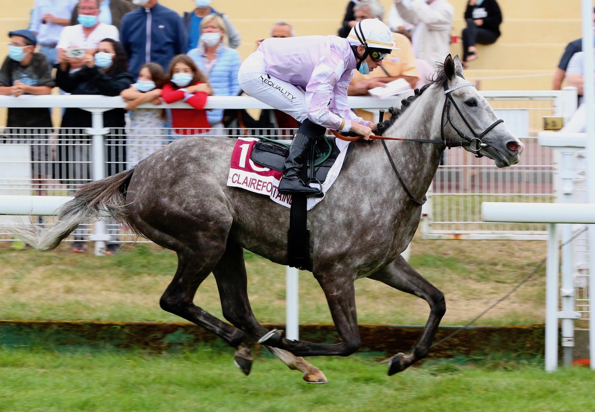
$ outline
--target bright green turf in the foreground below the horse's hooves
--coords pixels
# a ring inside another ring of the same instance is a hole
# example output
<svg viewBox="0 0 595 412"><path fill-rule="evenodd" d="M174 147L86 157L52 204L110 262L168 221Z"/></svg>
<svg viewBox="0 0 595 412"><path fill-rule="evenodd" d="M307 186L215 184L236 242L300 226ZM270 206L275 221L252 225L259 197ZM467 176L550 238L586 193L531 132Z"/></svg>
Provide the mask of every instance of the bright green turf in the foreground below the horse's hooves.
<svg viewBox="0 0 595 412"><path fill-rule="evenodd" d="M426 361L389 377L362 356L310 358L330 383L308 385L257 357L250 376L231 350L149 355L0 350L0 410L20 411L486 411L595 410L593 372L546 373L539 359Z"/></svg>

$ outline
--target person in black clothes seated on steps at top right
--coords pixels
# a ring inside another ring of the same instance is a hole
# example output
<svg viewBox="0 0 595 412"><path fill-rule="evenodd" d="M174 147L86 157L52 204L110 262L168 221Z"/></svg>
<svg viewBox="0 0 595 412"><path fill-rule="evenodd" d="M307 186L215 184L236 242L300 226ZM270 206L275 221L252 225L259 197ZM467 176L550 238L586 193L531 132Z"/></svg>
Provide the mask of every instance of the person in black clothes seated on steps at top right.
<svg viewBox="0 0 595 412"><path fill-rule="evenodd" d="M496 0L469 0L465 10L466 29L463 29L463 67L466 62L477 59L480 45L491 45L500 37L502 13Z"/></svg>

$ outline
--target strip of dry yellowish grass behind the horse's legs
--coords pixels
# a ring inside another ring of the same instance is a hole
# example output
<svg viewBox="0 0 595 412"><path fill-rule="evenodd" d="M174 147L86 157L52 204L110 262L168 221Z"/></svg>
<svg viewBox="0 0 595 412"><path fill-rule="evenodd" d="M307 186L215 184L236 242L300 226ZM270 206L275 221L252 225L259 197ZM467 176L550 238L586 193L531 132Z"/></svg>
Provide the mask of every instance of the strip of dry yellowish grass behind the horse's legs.
<svg viewBox="0 0 595 412"><path fill-rule="evenodd" d="M176 254L154 244L124 245L114 256L91 250L70 253L11 250L0 242L0 319L180 321L164 312L159 297L176 271ZM462 325L511 290L545 256L541 241L438 241L412 244L411 265L446 295L443 325ZM285 322L285 268L245 252L248 293L256 319ZM480 325L543 323L544 269ZM420 325L424 300L370 279L355 282L360 323ZM331 323L324 294L311 273L301 272L300 322ZM209 276L195 303L221 317L217 285Z"/></svg>

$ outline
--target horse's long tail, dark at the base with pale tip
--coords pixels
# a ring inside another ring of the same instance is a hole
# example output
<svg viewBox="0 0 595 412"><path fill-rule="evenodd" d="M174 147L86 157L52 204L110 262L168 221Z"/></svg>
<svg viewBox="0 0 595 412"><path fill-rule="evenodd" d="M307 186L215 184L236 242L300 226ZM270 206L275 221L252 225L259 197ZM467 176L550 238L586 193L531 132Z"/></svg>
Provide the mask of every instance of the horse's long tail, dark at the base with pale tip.
<svg viewBox="0 0 595 412"><path fill-rule="evenodd" d="M134 168L82 185L74 199L58 209L58 223L50 228L15 229L14 234L39 250L54 250L79 224L99 215L111 216L118 222L130 224L126 210L126 190Z"/></svg>

